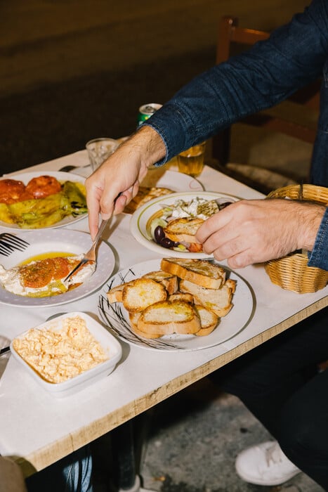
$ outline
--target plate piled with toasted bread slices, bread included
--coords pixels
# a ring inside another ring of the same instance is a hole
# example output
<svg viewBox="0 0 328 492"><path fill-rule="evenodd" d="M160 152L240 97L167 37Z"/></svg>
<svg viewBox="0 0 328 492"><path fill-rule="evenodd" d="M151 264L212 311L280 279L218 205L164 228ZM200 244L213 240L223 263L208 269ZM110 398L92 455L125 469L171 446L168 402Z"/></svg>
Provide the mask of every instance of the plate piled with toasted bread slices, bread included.
<svg viewBox="0 0 328 492"><path fill-rule="evenodd" d="M254 294L216 260L167 257L114 275L98 308L111 332L129 344L191 351L244 330L254 313Z"/></svg>

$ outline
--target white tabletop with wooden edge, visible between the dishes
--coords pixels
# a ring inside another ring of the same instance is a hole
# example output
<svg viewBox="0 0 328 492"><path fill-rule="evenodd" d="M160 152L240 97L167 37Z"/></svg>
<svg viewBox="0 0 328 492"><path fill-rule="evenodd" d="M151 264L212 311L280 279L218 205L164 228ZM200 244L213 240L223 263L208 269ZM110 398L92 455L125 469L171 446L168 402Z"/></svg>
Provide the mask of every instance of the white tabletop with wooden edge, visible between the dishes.
<svg viewBox="0 0 328 492"><path fill-rule="evenodd" d="M86 162L86 151L82 150L30 167L28 171L56 171L65 164L82 166ZM84 176L88 172L88 168L80 170ZM242 198L263 196L210 167L204 168L199 181L209 191ZM129 221L127 215L112 221L110 244L118 259L114 273L159 257L134 240ZM67 228L88 231L87 218ZM25 474L41 470L242 354L245 342L247 349L251 349L267 338L265 332L273 336L294 324L296 313L301 319L327 306L328 287L313 294L296 294L273 285L263 266L248 266L237 273L254 290L256 309L247 328L216 347L159 352L122 342L122 361L114 372L65 399L54 399L46 393L10 357L0 380L0 454L20 462ZM63 306L19 309L0 304L0 335L13 339L58 312L86 311L98 316L100 290Z"/></svg>

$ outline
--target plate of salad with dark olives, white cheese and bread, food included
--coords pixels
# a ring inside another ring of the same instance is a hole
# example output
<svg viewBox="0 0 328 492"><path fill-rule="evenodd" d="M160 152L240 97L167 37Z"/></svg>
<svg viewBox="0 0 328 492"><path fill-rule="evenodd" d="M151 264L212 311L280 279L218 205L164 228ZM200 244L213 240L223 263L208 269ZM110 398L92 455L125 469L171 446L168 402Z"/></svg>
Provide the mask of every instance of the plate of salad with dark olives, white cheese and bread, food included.
<svg viewBox="0 0 328 492"><path fill-rule="evenodd" d="M159 254L208 258L195 234L206 219L237 200L240 198L211 191L171 193L137 209L130 230L138 242Z"/></svg>

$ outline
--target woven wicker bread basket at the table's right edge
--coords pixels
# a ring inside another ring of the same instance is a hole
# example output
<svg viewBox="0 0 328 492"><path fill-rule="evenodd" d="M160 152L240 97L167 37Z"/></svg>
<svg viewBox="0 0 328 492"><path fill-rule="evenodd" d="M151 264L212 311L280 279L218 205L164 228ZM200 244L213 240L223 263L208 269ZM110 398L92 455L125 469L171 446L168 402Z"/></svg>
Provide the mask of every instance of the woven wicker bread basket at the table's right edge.
<svg viewBox="0 0 328 492"><path fill-rule="evenodd" d="M303 200L328 205L328 188L308 184L302 187L299 185L284 186L284 188L269 193L268 198L288 197L291 200L299 200L300 192ZM328 283L328 271L308 266L308 255L299 252L267 261L265 271L271 282L299 294L316 292Z"/></svg>

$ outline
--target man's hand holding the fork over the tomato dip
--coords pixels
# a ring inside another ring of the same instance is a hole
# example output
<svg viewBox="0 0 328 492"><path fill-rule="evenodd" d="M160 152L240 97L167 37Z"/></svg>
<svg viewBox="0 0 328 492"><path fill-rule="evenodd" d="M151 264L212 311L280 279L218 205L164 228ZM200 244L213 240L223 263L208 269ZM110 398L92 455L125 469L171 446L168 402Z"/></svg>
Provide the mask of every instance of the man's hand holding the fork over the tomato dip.
<svg viewBox="0 0 328 492"><path fill-rule="evenodd" d="M86 179L86 202L91 238L98 231L99 214L108 219L123 211L138 193L139 183L151 164L162 159L166 148L157 131L143 127L117 148Z"/></svg>

